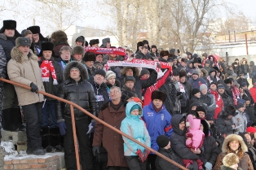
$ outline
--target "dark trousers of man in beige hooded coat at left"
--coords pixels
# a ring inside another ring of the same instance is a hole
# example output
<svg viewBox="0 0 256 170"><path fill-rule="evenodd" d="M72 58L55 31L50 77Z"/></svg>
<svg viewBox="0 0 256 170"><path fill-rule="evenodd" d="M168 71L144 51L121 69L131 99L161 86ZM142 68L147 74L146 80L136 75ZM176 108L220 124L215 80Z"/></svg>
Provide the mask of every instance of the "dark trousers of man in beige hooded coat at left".
<svg viewBox="0 0 256 170"><path fill-rule="evenodd" d="M26 118L26 133L28 138L28 147L33 150L42 148L42 138L40 135L40 126L42 121L42 102L22 106Z"/></svg>

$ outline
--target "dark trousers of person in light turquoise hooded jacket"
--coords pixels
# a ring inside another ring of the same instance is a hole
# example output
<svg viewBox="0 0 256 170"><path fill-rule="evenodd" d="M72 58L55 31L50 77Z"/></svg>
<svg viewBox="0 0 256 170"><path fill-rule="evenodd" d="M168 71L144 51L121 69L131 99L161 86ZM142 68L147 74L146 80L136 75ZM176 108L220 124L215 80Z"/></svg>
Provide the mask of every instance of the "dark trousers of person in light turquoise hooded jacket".
<svg viewBox="0 0 256 170"><path fill-rule="evenodd" d="M146 170L147 161L139 161L139 156L126 156L128 167L132 170Z"/></svg>

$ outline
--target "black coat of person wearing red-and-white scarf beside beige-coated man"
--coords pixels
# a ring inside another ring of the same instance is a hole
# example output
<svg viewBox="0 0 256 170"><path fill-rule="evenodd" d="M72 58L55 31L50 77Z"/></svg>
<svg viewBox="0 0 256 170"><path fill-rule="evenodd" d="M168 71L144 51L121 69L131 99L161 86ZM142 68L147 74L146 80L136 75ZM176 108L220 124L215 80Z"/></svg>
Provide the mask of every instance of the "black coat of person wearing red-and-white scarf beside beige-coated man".
<svg viewBox="0 0 256 170"><path fill-rule="evenodd" d="M38 62L39 63L39 67L41 66L43 60L44 59L42 57L41 60ZM53 62L53 67L55 68L55 74L56 74L56 77L57 77L58 85L54 85L53 84L53 78L52 78L51 75L49 77L49 82L42 82L42 83L43 83L43 86L44 86L44 88L46 90L46 93L53 94L53 95L56 96L57 92L58 92L58 88L59 88L59 86L63 82L63 70L62 70L62 68L60 66L60 63L58 63L58 62L56 62L54 60L52 60L52 62ZM45 98L47 100L55 100L55 99L47 97L47 96L45 96Z"/></svg>

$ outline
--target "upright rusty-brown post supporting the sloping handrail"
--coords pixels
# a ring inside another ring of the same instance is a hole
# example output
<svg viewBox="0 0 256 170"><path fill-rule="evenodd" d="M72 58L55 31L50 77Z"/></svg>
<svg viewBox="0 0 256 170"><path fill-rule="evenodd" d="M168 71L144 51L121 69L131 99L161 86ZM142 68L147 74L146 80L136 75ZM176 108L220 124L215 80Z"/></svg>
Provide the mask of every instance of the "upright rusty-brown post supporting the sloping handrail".
<svg viewBox="0 0 256 170"><path fill-rule="evenodd" d="M80 157L78 153L78 143L77 143L77 129L76 129L76 120L75 115L73 112L73 106L70 105L70 111L71 111L71 120L72 120L72 128L73 128L73 142L75 146L75 152L76 152L76 159L77 159L77 170L80 170Z"/></svg>

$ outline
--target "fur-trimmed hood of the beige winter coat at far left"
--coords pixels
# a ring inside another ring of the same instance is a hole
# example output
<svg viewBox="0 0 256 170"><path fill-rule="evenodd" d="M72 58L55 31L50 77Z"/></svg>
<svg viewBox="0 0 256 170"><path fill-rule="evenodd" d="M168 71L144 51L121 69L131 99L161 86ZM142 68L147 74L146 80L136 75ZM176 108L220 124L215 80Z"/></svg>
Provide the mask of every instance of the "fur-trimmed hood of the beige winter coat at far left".
<svg viewBox="0 0 256 170"><path fill-rule="evenodd" d="M14 59L18 63L23 63L26 60L33 59L38 61L38 56L33 54L32 50L29 50L29 57L28 55L23 54L21 50L17 47L13 47L11 50L11 59Z"/></svg>

